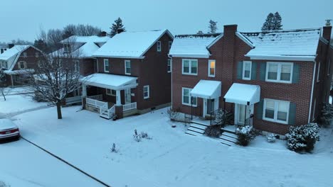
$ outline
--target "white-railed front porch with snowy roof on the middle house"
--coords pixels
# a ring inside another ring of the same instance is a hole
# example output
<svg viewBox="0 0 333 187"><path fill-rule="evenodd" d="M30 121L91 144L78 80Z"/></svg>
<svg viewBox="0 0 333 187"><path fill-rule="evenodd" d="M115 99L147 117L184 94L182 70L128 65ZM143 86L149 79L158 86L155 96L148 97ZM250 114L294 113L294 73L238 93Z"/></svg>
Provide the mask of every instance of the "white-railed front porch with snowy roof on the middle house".
<svg viewBox="0 0 333 187"><path fill-rule="evenodd" d="M124 113L137 110L137 103L131 99L131 89L137 87L137 77L97 73L84 77L81 81L83 107L100 113L100 117L122 118ZM87 86L96 87L105 93L88 95ZM122 92L125 93L125 101L122 101Z"/></svg>

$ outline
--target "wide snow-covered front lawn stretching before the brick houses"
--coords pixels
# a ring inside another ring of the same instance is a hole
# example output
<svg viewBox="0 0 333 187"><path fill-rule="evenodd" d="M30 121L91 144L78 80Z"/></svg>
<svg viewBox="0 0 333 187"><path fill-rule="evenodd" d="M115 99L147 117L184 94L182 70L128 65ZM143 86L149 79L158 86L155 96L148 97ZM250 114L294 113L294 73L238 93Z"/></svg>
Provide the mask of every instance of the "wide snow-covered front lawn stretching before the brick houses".
<svg viewBox="0 0 333 187"><path fill-rule="evenodd" d="M171 128L166 109L117 121L80 107L23 113L21 134L111 186L332 186L333 135L324 130L314 154L256 137L249 147L227 147ZM133 140L134 130L152 140ZM115 143L118 153L110 152ZM2 152L0 147L0 152ZM68 176L70 177L70 176Z"/></svg>

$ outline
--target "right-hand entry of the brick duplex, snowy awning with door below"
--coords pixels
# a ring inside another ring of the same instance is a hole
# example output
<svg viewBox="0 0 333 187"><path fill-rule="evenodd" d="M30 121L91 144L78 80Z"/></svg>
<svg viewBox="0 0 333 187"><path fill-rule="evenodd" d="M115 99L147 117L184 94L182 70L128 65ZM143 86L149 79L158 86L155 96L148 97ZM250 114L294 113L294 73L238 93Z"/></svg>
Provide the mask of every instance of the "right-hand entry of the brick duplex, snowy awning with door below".
<svg viewBox="0 0 333 187"><path fill-rule="evenodd" d="M235 125L253 125L254 105L260 102L260 86L234 83L223 101L235 104Z"/></svg>

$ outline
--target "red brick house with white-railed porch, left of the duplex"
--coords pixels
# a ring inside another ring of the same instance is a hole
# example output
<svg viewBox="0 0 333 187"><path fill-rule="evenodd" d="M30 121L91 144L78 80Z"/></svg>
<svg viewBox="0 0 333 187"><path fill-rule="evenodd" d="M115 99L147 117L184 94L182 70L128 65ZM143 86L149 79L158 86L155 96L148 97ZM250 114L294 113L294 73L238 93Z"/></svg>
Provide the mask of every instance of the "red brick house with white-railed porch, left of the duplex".
<svg viewBox="0 0 333 187"><path fill-rule="evenodd" d="M152 30L108 40L93 54L97 72L83 79L84 107L110 119L169 106L173 38L169 30Z"/></svg>

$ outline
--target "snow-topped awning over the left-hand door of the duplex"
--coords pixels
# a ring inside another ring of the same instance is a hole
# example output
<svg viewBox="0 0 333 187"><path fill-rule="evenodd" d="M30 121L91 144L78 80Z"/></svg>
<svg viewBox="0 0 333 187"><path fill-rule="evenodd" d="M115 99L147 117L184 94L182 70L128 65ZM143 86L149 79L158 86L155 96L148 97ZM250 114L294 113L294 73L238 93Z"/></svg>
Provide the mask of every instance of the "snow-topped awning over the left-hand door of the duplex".
<svg viewBox="0 0 333 187"><path fill-rule="evenodd" d="M199 81L190 92L191 96L199 98L218 98L221 96L221 81Z"/></svg>

